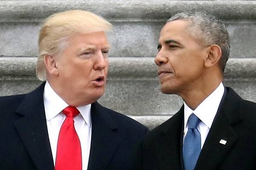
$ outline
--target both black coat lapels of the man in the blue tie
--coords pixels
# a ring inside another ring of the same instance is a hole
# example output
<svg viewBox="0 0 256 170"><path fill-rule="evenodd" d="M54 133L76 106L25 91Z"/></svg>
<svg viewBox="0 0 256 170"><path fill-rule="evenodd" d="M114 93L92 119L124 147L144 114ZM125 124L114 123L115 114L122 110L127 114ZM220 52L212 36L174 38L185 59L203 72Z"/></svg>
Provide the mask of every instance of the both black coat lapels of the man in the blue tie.
<svg viewBox="0 0 256 170"><path fill-rule="evenodd" d="M243 99L233 89L225 88L195 170L218 169L218 164L232 149L238 139L233 126L242 120L242 101ZM154 144L159 170L183 170L183 115L184 108L181 107L171 119L160 125L160 138ZM227 143L225 145L219 143L221 139Z"/></svg>

